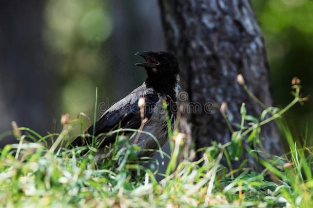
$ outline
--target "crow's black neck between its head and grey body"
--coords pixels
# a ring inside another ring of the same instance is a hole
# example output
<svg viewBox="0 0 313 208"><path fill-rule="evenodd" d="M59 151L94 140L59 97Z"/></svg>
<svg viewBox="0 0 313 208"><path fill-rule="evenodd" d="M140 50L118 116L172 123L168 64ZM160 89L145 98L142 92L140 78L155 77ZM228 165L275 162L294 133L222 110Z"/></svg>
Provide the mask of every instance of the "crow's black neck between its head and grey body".
<svg viewBox="0 0 313 208"><path fill-rule="evenodd" d="M148 76L146 79L147 88L152 88L159 93L168 94L172 99L176 100L176 91L178 88L179 78L177 75L167 78L161 78L157 76Z"/></svg>

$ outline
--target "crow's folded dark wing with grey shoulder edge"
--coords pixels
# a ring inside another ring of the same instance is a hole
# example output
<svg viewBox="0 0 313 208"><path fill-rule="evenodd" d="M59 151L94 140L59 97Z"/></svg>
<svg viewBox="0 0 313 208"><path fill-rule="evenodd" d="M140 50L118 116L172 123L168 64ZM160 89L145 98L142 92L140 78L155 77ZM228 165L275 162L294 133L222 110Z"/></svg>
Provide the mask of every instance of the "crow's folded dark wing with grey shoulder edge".
<svg viewBox="0 0 313 208"><path fill-rule="evenodd" d="M98 136L103 133L121 128L132 128L138 129L141 125L140 107L138 101L140 98L145 98L145 110L144 117L148 120L153 114L155 104L159 101L160 97L158 93L153 90L149 90L143 86L136 88L127 97L121 101L115 103L110 107L103 116L96 121L94 127L94 136ZM87 129L89 135L93 135L93 126ZM90 143L91 138L86 138L87 142ZM89 141L88 141L89 140ZM107 146L115 141L115 135L106 137L101 146ZM82 137L77 137L72 145L81 146L83 145Z"/></svg>

